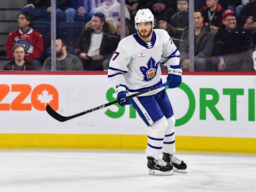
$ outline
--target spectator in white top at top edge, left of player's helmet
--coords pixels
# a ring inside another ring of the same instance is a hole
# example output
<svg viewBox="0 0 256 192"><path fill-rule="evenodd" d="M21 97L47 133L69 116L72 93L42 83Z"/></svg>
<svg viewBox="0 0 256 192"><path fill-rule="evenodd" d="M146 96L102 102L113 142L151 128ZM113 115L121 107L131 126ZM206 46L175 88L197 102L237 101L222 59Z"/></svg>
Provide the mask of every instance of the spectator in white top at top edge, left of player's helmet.
<svg viewBox="0 0 256 192"><path fill-rule="evenodd" d="M117 19L120 17L121 4L117 0L103 0L103 5L99 6L94 13L101 12L105 15L106 21L110 21L112 25L116 25ZM125 18L131 20L130 12L125 6Z"/></svg>

